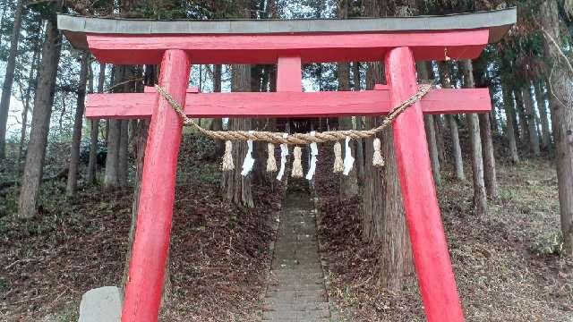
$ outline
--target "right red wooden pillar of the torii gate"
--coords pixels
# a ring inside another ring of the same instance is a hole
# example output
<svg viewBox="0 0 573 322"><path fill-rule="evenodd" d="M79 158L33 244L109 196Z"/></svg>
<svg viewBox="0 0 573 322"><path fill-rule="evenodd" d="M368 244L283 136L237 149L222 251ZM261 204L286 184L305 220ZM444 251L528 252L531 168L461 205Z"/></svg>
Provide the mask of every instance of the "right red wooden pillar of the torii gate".
<svg viewBox="0 0 573 322"><path fill-rule="evenodd" d="M410 48L389 51L386 79L393 106L417 91L415 61ZM464 321L441 223L420 104L398 116L393 129L406 223L428 322Z"/></svg>

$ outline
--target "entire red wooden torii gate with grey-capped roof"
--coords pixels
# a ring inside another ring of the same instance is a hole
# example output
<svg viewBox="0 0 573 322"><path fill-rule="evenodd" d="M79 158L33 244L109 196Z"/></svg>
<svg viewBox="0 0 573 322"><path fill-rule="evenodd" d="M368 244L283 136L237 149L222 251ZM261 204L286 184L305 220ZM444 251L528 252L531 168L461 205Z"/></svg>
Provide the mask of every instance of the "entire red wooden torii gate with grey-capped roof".
<svg viewBox="0 0 573 322"><path fill-rule="evenodd" d="M128 21L58 16L74 47L111 64L161 64L159 86L191 117L381 115L418 89L415 60L471 59L516 21L515 8L436 17L298 21ZM385 58L384 58L385 57ZM301 65L380 61L388 85L302 92ZM278 64L275 93L198 93L192 64ZM157 321L182 121L154 89L91 94L93 118L151 118L122 321ZM398 172L428 321L463 321L430 167L423 113L491 110L488 89L436 89L393 124Z"/></svg>

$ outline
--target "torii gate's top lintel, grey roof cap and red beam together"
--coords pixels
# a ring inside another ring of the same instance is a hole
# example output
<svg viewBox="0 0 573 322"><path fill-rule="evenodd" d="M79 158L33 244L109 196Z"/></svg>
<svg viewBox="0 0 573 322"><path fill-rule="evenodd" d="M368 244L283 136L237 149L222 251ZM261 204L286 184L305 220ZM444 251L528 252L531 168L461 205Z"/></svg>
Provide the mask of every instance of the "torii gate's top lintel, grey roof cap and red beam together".
<svg viewBox="0 0 573 322"><path fill-rule="evenodd" d="M272 64L286 53L303 63L376 61L404 46L418 60L443 59L445 49L451 58L475 58L516 22L517 10L346 20L57 18L73 47L90 49L105 63L157 64L161 53L178 48L192 52L193 64Z"/></svg>

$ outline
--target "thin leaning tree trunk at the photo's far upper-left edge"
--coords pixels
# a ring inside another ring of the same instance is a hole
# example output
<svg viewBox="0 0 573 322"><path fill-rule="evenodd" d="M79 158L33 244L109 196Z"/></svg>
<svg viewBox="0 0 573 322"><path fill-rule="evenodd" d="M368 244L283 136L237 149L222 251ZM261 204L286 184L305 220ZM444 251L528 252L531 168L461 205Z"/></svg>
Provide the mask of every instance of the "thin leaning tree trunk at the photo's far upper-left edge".
<svg viewBox="0 0 573 322"><path fill-rule="evenodd" d="M16 55L18 54L18 41L20 39L21 16L24 10L24 0L18 0L14 13L13 30L10 39L10 52L6 62L6 73L2 85L2 97L0 97L0 159L6 157L6 126L8 123L8 111L10 110L10 97L12 96L12 83L14 70L16 69Z"/></svg>

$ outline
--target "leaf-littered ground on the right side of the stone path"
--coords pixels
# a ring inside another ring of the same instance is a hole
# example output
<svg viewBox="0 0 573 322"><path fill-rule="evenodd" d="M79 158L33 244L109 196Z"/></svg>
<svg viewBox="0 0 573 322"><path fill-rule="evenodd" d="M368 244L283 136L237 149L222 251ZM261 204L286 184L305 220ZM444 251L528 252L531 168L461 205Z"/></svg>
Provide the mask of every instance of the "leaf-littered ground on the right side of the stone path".
<svg viewBox="0 0 573 322"><path fill-rule="evenodd" d="M560 257L554 166L526 160L499 165L498 175L500 199L490 202L486 216L472 212L471 182L447 179L439 189L467 321L573 321L573 262ZM330 295L349 321L425 320L415 281L398 292L377 286L372 276L381 258L376 245L360 240L360 201L339 202L337 182L321 168Z"/></svg>

